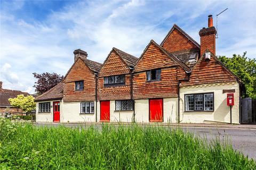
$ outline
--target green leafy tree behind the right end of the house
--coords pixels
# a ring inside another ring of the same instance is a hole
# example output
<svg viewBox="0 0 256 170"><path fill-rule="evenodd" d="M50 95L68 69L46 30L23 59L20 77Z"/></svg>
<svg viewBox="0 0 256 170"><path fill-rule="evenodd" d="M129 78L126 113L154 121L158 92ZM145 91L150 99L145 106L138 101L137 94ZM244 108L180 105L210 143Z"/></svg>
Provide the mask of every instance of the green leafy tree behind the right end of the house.
<svg viewBox="0 0 256 170"><path fill-rule="evenodd" d="M219 56L219 60L225 64L245 85L245 97L256 99L256 60L245 57L246 52L241 55L234 54L229 58Z"/></svg>

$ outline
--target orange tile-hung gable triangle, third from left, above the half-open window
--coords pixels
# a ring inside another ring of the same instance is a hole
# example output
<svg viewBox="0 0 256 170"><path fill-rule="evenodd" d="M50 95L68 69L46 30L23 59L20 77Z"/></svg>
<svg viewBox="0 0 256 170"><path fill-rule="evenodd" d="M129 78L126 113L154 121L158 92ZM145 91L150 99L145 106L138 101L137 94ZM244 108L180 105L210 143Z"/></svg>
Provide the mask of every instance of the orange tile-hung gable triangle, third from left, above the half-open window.
<svg viewBox="0 0 256 170"><path fill-rule="evenodd" d="M135 65L134 72L176 65L178 64L172 61L169 56L167 56L159 47L157 47L157 45L151 41Z"/></svg>

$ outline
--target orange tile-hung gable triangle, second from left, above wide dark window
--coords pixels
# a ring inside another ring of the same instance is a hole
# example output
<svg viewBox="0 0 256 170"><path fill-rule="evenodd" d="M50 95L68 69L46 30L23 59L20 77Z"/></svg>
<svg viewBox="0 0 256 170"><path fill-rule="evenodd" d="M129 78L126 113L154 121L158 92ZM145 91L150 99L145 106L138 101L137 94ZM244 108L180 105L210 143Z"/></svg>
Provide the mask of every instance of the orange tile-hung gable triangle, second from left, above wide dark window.
<svg viewBox="0 0 256 170"><path fill-rule="evenodd" d="M130 73L129 67L113 49L108 55L106 61L103 63L99 72L99 77L129 74L129 73Z"/></svg>

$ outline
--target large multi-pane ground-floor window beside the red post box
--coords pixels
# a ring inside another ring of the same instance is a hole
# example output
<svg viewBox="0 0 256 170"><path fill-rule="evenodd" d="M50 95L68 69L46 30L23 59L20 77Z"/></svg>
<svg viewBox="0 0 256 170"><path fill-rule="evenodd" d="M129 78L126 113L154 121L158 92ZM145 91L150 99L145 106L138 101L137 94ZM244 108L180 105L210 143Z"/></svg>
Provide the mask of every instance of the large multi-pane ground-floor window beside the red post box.
<svg viewBox="0 0 256 170"><path fill-rule="evenodd" d="M185 111L213 111L213 93L185 95Z"/></svg>

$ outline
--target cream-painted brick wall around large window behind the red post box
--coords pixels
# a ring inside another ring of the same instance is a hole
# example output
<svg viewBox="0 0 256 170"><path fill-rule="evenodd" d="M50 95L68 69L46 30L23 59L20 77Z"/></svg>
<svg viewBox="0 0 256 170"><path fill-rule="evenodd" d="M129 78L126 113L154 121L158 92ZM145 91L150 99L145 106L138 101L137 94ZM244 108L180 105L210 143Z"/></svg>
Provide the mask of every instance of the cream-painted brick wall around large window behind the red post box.
<svg viewBox="0 0 256 170"><path fill-rule="evenodd" d="M239 84L215 83L180 88L180 123L230 123L230 106L227 106L227 93L223 89L235 89L232 123L239 123ZM185 94L214 93L214 111L185 112Z"/></svg>

